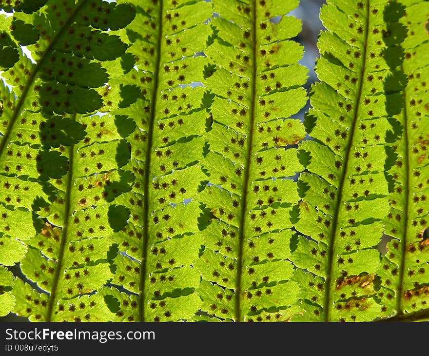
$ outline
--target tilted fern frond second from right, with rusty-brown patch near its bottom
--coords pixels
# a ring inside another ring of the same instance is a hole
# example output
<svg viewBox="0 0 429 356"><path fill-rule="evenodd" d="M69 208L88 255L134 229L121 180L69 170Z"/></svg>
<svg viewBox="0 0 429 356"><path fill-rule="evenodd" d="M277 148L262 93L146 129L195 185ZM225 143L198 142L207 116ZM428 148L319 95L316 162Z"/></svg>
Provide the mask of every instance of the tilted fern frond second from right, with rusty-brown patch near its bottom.
<svg viewBox="0 0 429 356"><path fill-rule="evenodd" d="M295 227L311 240L300 237L292 258L311 274L296 272L306 310L296 320L364 321L380 313L374 275L389 209L384 82L390 69L383 55L395 39L386 24L389 6L344 0L321 10L327 28L318 42L321 82L312 88L305 121L314 140L298 148L310 173L299 178Z"/></svg>

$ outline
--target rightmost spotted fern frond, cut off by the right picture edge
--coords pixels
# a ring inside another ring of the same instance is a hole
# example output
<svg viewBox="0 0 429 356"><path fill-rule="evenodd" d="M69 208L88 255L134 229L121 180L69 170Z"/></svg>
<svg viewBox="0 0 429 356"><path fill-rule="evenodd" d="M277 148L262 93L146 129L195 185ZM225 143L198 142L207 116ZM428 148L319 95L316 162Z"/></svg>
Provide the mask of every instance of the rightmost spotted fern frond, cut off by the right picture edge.
<svg viewBox="0 0 429 356"><path fill-rule="evenodd" d="M386 234L392 237L379 271L382 279L381 304L386 316L398 319L428 313L428 144L429 103L428 20L427 2L403 1L406 17L400 19L408 28L396 67L396 97L402 110L392 117L393 142L390 144L390 212L386 218ZM398 25L400 26L400 25ZM403 60L401 60L401 58ZM400 78L400 77L399 77ZM393 80L392 80L393 83ZM402 84L402 85L401 85ZM394 90L392 87L391 90Z"/></svg>

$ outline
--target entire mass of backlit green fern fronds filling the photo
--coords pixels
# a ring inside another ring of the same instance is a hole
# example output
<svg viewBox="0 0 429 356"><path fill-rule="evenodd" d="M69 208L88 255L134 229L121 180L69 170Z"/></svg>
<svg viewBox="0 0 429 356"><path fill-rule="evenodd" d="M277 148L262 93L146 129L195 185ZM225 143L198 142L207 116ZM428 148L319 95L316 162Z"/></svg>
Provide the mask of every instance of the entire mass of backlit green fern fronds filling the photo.
<svg viewBox="0 0 429 356"><path fill-rule="evenodd" d="M0 315L429 318L429 2L297 5L0 0Z"/></svg>

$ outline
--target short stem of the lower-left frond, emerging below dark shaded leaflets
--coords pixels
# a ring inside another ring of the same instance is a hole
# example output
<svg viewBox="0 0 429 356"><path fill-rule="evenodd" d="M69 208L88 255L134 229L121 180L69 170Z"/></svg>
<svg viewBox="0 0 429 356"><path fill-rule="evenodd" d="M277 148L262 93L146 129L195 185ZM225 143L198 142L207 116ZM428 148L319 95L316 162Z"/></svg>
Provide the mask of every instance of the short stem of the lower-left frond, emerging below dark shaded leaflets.
<svg viewBox="0 0 429 356"><path fill-rule="evenodd" d="M73 115L73 121L76 120L76 114ZM54 302L56 299L57 288L59 283L59 277L62 270L62 259L64 257L64 250L67 242L67 231L70 225L70 206L71 206L71 194L72 194L72 185L73 185L73 159L75 155L75 145L71 145L68 149L69 154L69 164L67 172L67 184L66 184L66 195L64 199L64 224L62 227L61 241L59 242L59 253L57 260L57 267L55 269L55 274L53 278L53 284L51 288L51 293L49 295L48 309L46 315L46 321L52 321L52 312L54 310Z"/></svg>

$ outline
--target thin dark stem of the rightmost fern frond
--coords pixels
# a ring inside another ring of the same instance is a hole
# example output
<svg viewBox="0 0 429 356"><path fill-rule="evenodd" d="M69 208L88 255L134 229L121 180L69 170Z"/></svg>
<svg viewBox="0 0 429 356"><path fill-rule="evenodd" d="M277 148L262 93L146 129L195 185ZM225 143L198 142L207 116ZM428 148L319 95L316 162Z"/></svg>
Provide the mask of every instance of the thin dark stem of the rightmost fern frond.
<svg viewBox="0 0 429 356"><path fill-rule="evenodd" d="M404 72L404 67L401 64L401 71ZM404 196L407 197L405 200L405 236L401 239L401 262L399 265L399 282L396 290L396 313L397 315L403 314L402 312L402 305L403 305L403 294L404 294L404 275L405 275L405 252L406 252L406 246L407 246L407 240L408 240L408 226L410 226L411 221L409 221L409 206L411 198L409 195L409 136L408 136L408 111L407 111L407 98L409 96L407 95L406 88L402 91L403 97L404 97L404 110L402 111L402 118L404 122L404 148L405 148L405 157L404 157L404 171L407 172L405 175L405 183L404 183Z"/></svg>

